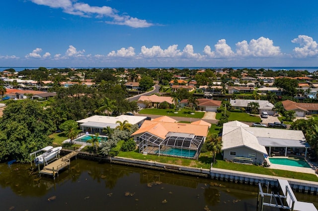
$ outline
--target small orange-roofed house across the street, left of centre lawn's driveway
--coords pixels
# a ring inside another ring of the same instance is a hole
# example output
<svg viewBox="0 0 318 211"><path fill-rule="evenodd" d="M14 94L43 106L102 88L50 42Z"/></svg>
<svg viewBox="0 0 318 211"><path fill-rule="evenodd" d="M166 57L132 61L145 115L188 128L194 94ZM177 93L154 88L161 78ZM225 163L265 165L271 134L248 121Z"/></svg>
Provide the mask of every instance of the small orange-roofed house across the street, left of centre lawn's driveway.
<svg viewBox="0 0 318 211"><path fill-rule="evenodd" d="M137 101L137 105L142 108L159 107L159 105L163 102L167 102L171 105L173 104L173 99L171 97L161 97L158 95L140 96Z"/></svg>

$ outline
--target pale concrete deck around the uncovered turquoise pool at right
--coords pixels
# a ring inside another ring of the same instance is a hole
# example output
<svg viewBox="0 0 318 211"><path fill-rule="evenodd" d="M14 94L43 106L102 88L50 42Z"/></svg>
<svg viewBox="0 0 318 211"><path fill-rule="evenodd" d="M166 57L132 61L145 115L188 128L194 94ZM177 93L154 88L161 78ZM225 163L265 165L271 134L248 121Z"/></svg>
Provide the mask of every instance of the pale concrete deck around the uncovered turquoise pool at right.
<svg viewBox="0 0 318 211"><path fill-rule="evenodd" d="M275 157L275 158L288 158L288 157ZM291 165L280 165L280 164L273 164L270 162L268 158L266 158L268 164L270 164L269 168L272 169L281 169L281 170L286 170L286 171L294 171L294 172L302 172L302 173L310 173L310 174L315 174L318 176L316 173L316 170L318 169L318 164L314 162L308 161L310 164L311 168L306 168L306 167L297 167L297 166L291 166Z"/></svg>

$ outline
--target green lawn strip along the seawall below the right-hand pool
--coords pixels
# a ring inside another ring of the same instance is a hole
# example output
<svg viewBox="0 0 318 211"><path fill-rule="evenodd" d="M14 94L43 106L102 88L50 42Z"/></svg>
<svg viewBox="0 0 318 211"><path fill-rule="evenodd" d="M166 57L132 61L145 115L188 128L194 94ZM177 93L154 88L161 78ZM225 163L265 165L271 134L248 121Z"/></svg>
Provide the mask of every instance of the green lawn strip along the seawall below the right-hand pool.
<svg viewBox="0 0 318 211"><path fill-rule="evenodd" d="M263 166L256 166L256 165L245 165L245 164L225 161L222 159L218 159L217 163L213 164L213 167L318 182L318 177L315 174L264 168Z"/></svg>

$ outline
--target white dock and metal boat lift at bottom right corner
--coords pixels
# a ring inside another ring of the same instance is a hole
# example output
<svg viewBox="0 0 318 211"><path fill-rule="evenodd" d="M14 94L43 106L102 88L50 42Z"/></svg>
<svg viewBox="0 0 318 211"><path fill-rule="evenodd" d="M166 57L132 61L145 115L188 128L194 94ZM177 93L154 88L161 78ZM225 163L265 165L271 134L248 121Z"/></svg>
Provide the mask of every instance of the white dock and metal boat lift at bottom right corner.
<svg viewBox="0 0 318 211"><path fill-rule="evenodd" d="M297 201L296 196L287 180L278 179L278 183L283 195L280 195L279 193L275 194L273 191L271 193L264 193L262 190L262 185L258 183L259 192L257 196L256 210L258 210L260 205L261 211L263 211L263 206L275 207L290 211L317 211L313 203ZM264 202L265 197L269 198L269 202L268 200L267 202Z"/></svg>

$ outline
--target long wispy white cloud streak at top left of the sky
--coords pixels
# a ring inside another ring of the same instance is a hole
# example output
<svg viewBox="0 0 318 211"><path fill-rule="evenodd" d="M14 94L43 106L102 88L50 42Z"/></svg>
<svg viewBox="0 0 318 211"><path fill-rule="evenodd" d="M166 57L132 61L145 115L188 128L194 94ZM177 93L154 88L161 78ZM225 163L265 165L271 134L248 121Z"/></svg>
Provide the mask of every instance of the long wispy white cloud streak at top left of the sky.
<svg viewBox="0 0 318 211"><path fill-rule="evenodd" d="M49 6L52 8L62 8L65 13L79 15L83 17L95 16L96 18L111 18L105 23L126 25L133 28L145 28L153 26L147 20L131 17L127 14L121 15L116 9L109 6L91 6L87 3L73 2L72 0L31 0L33 3Z"/></svg>

